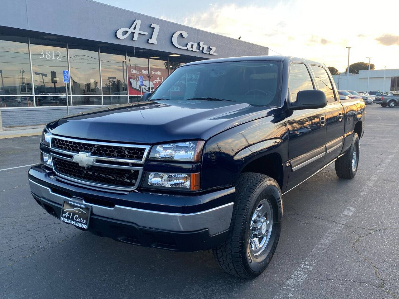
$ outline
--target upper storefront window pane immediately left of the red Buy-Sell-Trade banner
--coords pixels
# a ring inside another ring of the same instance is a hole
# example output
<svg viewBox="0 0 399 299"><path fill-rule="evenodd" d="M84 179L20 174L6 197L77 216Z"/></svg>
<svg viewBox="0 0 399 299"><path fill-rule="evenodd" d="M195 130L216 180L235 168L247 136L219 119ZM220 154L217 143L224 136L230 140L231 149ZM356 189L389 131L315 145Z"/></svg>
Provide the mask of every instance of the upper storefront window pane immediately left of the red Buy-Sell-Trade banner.
<svg viewBox="0 0 399 299"><path fill-rule="evenodd" d="M100 49L100 60L103 94L127 94L124 53Z"/></svg>

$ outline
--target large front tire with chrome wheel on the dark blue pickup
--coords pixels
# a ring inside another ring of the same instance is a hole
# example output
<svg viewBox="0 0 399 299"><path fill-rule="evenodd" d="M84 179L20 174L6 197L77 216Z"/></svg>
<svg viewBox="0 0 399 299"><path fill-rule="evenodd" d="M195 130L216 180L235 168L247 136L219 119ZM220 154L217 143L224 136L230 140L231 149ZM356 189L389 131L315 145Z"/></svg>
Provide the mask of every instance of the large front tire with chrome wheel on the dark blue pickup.
<svg viewBox="0 0 399 299"><path fill-rule="evenodd" d="M279 184L260 173L242 173L236 185L229 236L213 248L220 267L242 278L261 274L279 242L281 218Z"/></svg>

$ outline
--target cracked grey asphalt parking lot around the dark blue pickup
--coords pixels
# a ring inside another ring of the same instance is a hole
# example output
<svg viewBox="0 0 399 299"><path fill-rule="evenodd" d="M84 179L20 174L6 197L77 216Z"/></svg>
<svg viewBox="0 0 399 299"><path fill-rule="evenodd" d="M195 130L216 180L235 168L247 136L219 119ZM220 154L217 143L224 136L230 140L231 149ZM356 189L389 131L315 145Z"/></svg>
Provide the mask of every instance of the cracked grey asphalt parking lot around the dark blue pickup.
<svg viewBox="0 0 399 299"><path fill-rule="evenodd" d="M211 250L170 252L82 232L32 198L40 136L0 140L0 298L399 298L399 107L366 106L359 170L334 164L283 197L280 242L253 280ZM8 169L12 168L12 169Z"/></svg>

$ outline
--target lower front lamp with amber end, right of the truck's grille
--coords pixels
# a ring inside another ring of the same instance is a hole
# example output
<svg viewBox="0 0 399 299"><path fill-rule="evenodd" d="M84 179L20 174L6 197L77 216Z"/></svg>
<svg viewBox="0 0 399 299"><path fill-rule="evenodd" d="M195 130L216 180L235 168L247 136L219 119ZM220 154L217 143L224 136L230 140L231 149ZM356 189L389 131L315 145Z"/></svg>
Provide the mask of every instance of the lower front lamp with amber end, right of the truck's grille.
<svg viewBox="0 0 399 299"><path fill-rule="evenodd" d="M146 172L144 187L170 190L199 190L199 173L160 173Z"/></svg>

